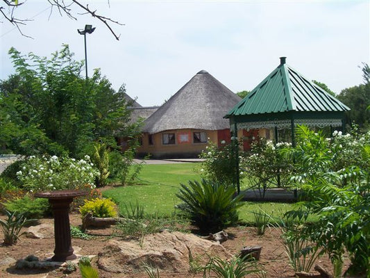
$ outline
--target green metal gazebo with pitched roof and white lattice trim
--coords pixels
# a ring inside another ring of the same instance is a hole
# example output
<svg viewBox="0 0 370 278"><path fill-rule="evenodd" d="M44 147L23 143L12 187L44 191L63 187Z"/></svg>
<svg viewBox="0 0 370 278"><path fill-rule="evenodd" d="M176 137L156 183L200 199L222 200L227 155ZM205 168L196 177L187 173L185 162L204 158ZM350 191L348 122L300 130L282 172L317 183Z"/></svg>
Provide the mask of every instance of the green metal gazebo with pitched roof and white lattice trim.
<svg viewBox="0 0 370 278"><path fill-rule="evenodd" d="M277 142L278 129L291 129L295 145L294 127L298 124L344 129L344 112L350 108L285 60L280 57L280 65L224 116L233 134L239 129L274 129ZM239 180L237 184L239 192Z"/></svg>

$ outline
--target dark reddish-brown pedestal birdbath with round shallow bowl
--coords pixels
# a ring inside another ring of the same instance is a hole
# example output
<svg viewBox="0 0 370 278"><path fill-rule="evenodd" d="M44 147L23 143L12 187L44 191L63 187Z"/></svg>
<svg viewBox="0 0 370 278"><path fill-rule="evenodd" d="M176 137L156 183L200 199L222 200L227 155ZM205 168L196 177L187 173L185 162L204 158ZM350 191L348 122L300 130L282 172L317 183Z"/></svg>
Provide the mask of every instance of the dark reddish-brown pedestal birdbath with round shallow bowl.
<svg viewBox="0 0 370 278"><path fill-rule="evenodd" d="M54 215L54 238L56 249L51 261L67 261L76 259L71 242L71 227L69 226L69 204L74 197L87 195L83 190L56 190L36 193L35 197L47 198Z"/></svg>

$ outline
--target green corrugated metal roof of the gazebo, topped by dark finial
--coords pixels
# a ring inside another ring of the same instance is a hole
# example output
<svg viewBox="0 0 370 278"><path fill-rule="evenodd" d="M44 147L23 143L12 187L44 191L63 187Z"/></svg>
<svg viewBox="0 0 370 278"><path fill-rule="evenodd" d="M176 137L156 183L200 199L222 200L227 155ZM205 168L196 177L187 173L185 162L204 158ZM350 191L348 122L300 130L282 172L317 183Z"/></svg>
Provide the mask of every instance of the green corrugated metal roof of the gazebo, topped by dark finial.
<svg viewBox="0 0 370 278"><path fill-rule="evenodd" d="M349 108L280 58L280 65L231 109L231 115L298 112L343 112Z"/></svg>

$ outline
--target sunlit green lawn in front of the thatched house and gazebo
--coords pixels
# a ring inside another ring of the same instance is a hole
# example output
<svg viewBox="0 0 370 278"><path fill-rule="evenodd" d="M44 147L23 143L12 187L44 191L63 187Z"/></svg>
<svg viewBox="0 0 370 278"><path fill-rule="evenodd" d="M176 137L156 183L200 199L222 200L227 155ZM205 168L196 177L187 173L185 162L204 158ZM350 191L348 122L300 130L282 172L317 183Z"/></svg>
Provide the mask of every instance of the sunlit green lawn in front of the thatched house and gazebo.
<svg viewBox="0 0 370 278"><path fill-rule="evenodd" d="M139 180L134 186L112 188L103 192L119 206L121 213L125 211L125 204L144 206L145 213L169 216L174 212L174 206L180 202L176 193L180 183L187 184L189 180L200 180L199 163L179 163L162 165L144 165ZM246 202L240 209L240 218L243 222L253 222L251 211L263 211L269 215L278 216L292 208L292 204L271 202Z"/></svg>

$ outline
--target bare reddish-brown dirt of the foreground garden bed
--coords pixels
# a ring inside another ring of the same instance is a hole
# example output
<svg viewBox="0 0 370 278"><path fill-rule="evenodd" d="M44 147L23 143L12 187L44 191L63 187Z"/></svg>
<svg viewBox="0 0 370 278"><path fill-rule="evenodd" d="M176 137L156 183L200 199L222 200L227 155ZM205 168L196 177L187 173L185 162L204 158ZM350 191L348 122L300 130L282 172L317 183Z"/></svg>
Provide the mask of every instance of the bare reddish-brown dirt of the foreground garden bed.
<svg viewBox="0 0 370 278"><path fill-rule="evenodd" d="M81 224L81 218L78 214L71 214L69 216L70 222L74 226ZM41 223L53 224L53 219L47 218L42 219ZM287 278L294 277L294 271L288 264L288 258L285 254L284 247L280 242L280 230L275 228L267 229L264 236L257 236L253 227L231 227L226 230L229 235L232 236L230 240L222 243L231 254L238 254L242 247L260 245L262 246L262 252L260 256L260 265L267 272L266 277L268 278ZM100 229L94 230L92 233L99 234L92 240L81 240L72 238L72 246L74 247L75 254L87 256L97 255L103 247L107 244L107 240L110 238L112 229ZM2 237L2 234L0 235ZM34 239L26 238L22 236L16 245L12 246L0 246L0 262L11 257L15 260L24 259L29 254L34 254L40 260L47 259L53 256L54 240L49 239ZM332 270L331 264L326 257L321 257L317 261L319 265L327 270ZM63 273L61 269L40 271L40 270L16 270L14 268L15 263L11 265L0 265L0 277L81 277L78 271L72 273ZM92 265L97 268L96 259L92 260ZM348 267L348 259L345 260L344 270ZM99 270L99 277L132 277L132 278L147 278L145 272L137 273L135 275L118 275L115 273L105 272ZM203 273L165 273L160 272L160 277L203 277ZM251 276L253 277L253 276Z"/></svg>

